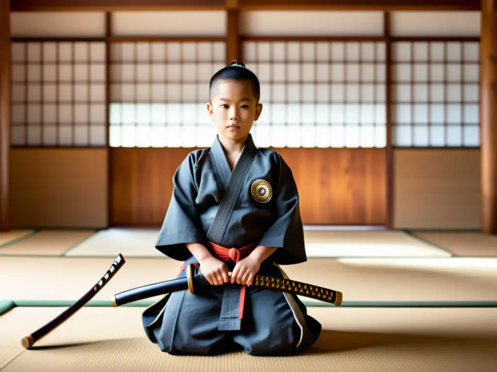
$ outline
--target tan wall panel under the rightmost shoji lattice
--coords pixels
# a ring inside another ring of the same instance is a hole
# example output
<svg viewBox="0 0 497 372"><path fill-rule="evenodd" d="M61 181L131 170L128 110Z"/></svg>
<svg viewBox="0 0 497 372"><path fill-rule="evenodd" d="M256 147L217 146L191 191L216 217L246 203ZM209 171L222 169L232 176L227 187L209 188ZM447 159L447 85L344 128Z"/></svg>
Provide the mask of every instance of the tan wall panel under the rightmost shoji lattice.
<svg viewBox="0 0 497 372"><path fill-rule="evenodd" d="M479 149L396 149L394 228L480 229Z"/></svg>

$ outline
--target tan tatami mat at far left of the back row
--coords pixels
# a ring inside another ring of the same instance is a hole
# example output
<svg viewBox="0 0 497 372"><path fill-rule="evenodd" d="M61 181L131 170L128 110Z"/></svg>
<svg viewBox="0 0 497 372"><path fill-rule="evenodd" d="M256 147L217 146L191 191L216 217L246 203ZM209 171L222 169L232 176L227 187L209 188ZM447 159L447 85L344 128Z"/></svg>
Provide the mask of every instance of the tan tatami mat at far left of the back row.
<svg viewBox="0 0 497 372"><path fill-rule="evenodd" d="M92 230L43 230L6 247L0 247L0 255L61 255L92 234Z"/></svg>

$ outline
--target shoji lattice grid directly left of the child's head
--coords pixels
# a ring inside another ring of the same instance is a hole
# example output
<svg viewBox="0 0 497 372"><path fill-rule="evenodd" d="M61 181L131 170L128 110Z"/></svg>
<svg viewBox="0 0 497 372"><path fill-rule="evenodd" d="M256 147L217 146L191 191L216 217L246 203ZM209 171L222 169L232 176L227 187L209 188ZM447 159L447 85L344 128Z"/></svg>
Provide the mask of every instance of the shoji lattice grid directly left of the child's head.
<svg viewBox="0 0 497 372"><path fill-rule="evenodd" d="M109 145L210 146L209 81L225 56L215 41L113 44Z"/></svg>

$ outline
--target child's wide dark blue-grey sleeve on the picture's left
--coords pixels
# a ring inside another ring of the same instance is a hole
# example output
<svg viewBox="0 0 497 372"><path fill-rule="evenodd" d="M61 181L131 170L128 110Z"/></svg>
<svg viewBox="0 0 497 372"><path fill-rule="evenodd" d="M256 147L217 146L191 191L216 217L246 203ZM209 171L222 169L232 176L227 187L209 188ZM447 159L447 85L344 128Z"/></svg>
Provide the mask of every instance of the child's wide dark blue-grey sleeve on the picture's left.
<svg viewBox="0 0 497 372"><path fill-rule="evenodd" d="M173 189L156 248L170 258L184 261L191 257L186 243L204 244L195 206L195 157L190 153L172 178Z"/></svg>

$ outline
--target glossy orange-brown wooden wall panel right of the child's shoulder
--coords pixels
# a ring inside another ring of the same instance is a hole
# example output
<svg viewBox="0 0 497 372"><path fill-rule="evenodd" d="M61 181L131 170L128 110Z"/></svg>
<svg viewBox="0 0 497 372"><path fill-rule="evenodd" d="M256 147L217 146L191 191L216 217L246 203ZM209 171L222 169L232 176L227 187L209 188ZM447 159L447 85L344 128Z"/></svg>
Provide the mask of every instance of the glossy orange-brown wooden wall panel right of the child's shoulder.
<svg viewBox="0 0 497 372"><path fill-rule="evenodd" d="M292 169L308 225L383 225L385 149L277 149Z"/></svg>

